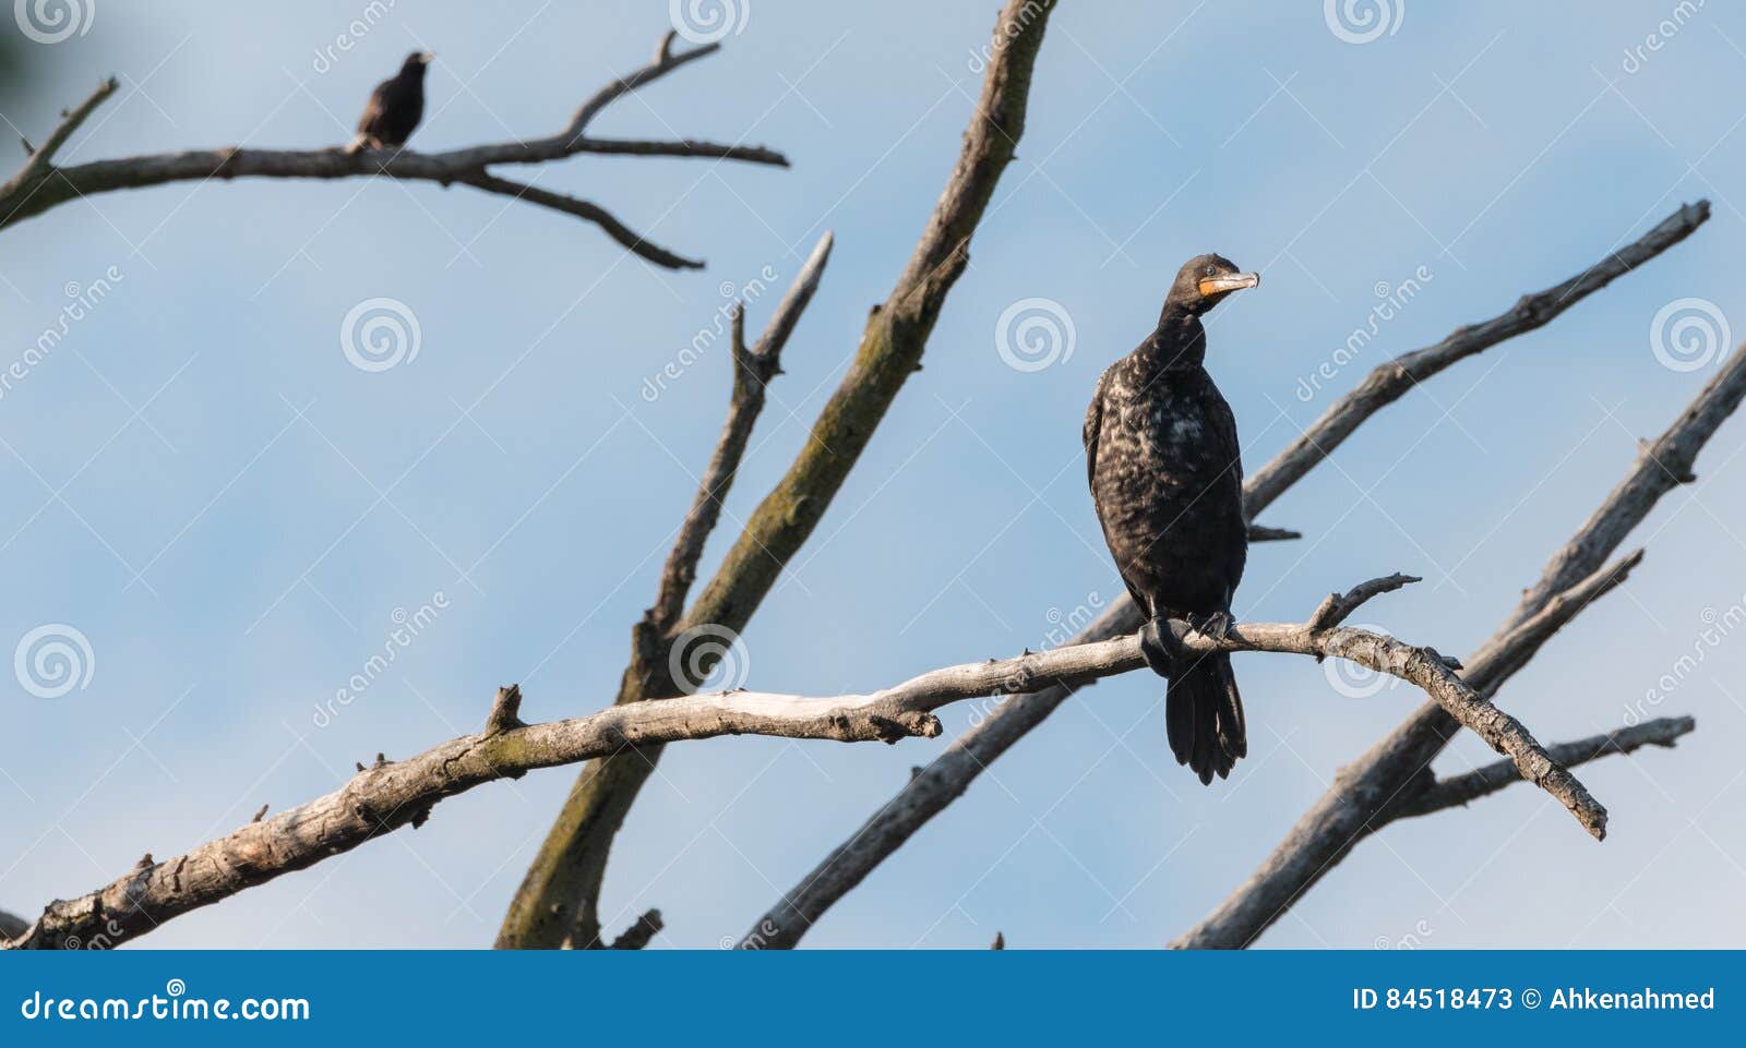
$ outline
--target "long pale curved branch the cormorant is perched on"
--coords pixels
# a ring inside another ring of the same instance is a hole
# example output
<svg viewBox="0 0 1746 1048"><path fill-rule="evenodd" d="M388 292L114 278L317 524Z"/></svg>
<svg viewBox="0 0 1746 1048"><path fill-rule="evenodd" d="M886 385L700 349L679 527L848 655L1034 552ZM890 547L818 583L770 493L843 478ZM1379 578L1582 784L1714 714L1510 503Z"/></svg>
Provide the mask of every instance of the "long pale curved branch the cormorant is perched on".
<svg viewBox="0 0 1746 1048"><path fill-rule="evenodd" d="M1591 834L1605 834L1606 809L1516 718L1461 684L1428 649L1364 629L1318 629L1308 623L1245 623L1222 640L1193 633L1184 623L1172 626L1189 650L1336 656L1414 684L1493 750L1507 753L1523 778L1557 797ZM1138 636L1121 636L946 666L870 694L803 698L732 691L615 704L590 717L550 724L520 724L520 689L510 685L498 691L484 732L407 760L379 759L360 767L333 793L250 821L173 860L141 860L98 891L56 900L7 945L49 949L70 936L91 942L100 931L110 938L145 935L189 910L307 868L407 823L417 827L447 797L540 767L728 734L842 743L932 738L941 732L934 710L950 703L1044 684L1074 687L1144 666Z"/></svg>

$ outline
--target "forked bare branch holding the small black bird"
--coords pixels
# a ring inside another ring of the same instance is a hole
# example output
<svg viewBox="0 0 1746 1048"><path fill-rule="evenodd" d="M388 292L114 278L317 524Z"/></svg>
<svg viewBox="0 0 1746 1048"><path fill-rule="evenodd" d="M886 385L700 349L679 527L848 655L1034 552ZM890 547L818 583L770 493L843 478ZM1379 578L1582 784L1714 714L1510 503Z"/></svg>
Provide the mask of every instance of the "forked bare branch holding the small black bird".
<svg viewBox="0 0 1746 1048"><path fill-rule="evenodd" d="M189 150L180 153L154 153L93 160L68 167L52 162L54 153L103 101L115 94L115 80L105 80L79 108L65 115L54 133L44 140L10 181L0 187L0 228L42 214L58 204L115 190L145 188L171 181L206 181L210 178L367 178L386 176L409 181L454 183L527 201L585 221L599 225L609 237L639 258L667 269L697 269L702 262L683 258L632 232L609 211L588 201L578 201L520 181L498 178L487 167L499 164L546 164L578 153L613 153L639 157L709 157L772 164L786 167L787 159L765 146L719 145L711 141L613 140L587 134L588 122L625 94L670 73L672 70L712 54L719 44L705 44L691 51L674 52L663 38L655 61L641 70L613 80L576 110L564 131L548 138L478 145L440 153L398 150L257 150L222 146L217 150Z"/></svg>

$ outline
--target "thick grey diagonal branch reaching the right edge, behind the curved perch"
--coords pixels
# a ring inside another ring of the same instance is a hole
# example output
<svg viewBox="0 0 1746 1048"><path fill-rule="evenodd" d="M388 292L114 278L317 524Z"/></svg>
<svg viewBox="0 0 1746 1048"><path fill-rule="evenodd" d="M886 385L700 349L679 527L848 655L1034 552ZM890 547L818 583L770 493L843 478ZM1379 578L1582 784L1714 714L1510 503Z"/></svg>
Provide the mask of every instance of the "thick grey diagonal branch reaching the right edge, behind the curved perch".
<svg viewBox="0 0 1746 1048"><path fill-rule="evenodd" d="M1746 398L1746 345L1737 349L1704 385L1697 399L1652 445L1624 481L1601 502L1575 537L1547 563L1540 581L1523 593L1503 626L1468 661L1468 675L1496 687L1523 661L1517 645L1533 640L1536 616L1552 610L1552 598L1598 572L1606 556L1676 485L1690 480L1699 448ZM1629 558L1627 558L1629 561ZM1580 607L1582 602L1571 602ZM1575 609L1571 609L1575 610ZM1386 807L1430 767L1453 734L1453 722L1435 706L1423 706L1369 753L1346 767L1334 788L1297 820L1290 834L1255 874L1175 945L1245 947L1266 931L1304 891L1367 832Z"/></svg>

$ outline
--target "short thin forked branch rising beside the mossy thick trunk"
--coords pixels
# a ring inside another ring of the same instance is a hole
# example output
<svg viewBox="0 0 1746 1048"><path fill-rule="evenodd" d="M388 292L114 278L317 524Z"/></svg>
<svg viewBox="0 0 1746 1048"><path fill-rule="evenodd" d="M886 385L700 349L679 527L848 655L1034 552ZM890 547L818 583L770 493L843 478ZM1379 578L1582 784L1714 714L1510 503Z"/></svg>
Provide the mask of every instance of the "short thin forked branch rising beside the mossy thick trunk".
<svg viewBox="0 0 1746 1048"><path fill-rule="evenodd" d="M655 607L644 616L644 623L651 629L665 633L684 610L684 598L691 591L693 579L697 579L697 561L704 556L704 542L709 541L711 532L716 528L716 521L721 516L721 500L726 499L728 488L733 487L733 476L740 467L740 457L746 453L746 443L751 439L753 425L756 425L758 415L763 412L765 387L773 377L782 373L782 347L787 345L787 337L794 333L800 314L807 310L807 303L812 302L812 295L819 289L819 281L824 277L824 263L831 258L833 242L829 232L819 237L807 263L800 267L800 276L794 277L794 284L782 296L780 305L777 305L775 314L770 317L770 324L753 349L746 347L744 305L733 314L733 392L728 399L728 420L721 427L721 438L716 441L714 455L709 459L709 469L704 471L704 480L697 485L691 509L684 514L684 523L679 525L679 537L674 539L672 551L667 555Z"/></svg>

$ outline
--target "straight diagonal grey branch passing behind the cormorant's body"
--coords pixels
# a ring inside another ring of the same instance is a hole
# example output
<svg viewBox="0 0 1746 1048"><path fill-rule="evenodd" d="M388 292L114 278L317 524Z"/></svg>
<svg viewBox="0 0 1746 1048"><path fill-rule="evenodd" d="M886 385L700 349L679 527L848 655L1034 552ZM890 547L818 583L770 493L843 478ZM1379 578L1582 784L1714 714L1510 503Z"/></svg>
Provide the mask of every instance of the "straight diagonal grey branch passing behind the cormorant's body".
<svg viewBox="0 0 1746 1048"><path fill-rule="evenodd" d="M1254 521L1287 488L1303 480L1334 448L1350 438L1371 415L1397 401L1413 384L1477 354L1510 335L1545 324L1570 305L1599 289L1608 281L1643 265L1678 244L1709 218L1709 202L1681 206L1655 228L1577 274L1563 284L1529 295L1516 309L1482 324L1458 328L1435 345L1404 354L1374 368L1358 387L1322 413L1304 434L1292 441L1243 483L1243 509ZM1531 321L1531 323L1529 323ZM1086 629L1076 643L1131 633L1140 614L1123 595ZM789 895L765 915L775 943L793 945L824 912L856 884L866 879L890 853L915 835L929 820L946 809L1018 739L1042 724L1072 696L1063 687L1042 689L1000 704L981 724L955 739L920 774L885 802L856 834L833 849Z"/></svg>

